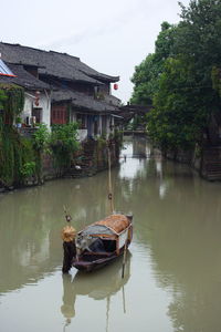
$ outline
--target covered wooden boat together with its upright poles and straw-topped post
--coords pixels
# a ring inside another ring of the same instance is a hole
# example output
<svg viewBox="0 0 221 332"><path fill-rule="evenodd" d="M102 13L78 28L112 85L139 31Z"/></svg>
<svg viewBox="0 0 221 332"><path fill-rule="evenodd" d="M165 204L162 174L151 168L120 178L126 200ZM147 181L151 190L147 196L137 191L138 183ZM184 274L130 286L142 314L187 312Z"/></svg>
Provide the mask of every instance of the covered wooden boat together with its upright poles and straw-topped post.
<svg viewBox="0 0 221 332"><path fill-rule="evenodd" d="M73 227L67 226L62 230L64 260L62 271L66 273L73 266L82 271L93 271L106 266L124 253L123 273L126 261L127 248L133 238L133 216L114 212L112 176L110 176L110 153L108 153L108 200L110 204L110 216L103 220L93 222L75 237ZM71 216L64 207L66 221ZM74 240L75 238L75 240Z"/></svg>

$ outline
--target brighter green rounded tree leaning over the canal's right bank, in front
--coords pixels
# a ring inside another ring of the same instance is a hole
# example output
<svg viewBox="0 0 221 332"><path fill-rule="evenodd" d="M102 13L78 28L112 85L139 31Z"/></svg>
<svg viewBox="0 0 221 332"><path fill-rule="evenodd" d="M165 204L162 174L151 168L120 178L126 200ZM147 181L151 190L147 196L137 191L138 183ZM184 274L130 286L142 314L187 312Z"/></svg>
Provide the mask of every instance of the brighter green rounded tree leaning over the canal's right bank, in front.
<svg viewBox="0 0 221 332"><path fill-rule="evenodd" d="M148 133L162 149L189 149L201 142L208 108L201 103L201 89L188 85L192 64L168 59L148 116Z"/></svg>

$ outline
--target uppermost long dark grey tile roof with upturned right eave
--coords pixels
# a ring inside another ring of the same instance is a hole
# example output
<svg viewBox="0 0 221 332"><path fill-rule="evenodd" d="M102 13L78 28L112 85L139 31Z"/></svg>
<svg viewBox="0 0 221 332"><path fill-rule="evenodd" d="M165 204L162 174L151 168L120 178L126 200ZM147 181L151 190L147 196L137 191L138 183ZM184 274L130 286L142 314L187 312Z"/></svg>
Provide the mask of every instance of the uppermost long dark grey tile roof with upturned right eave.
<svg viewBox="0 0 221 332"><path fill-rule="evenodd" d="M116 82L119 77L108 76L81 62L78 58L53 51L42 51L20 44L0 42L2 60L8 63L39 66L39 73L60 79L99 85L102 82ZM101 81L102 82L101 82Z"/></svg>

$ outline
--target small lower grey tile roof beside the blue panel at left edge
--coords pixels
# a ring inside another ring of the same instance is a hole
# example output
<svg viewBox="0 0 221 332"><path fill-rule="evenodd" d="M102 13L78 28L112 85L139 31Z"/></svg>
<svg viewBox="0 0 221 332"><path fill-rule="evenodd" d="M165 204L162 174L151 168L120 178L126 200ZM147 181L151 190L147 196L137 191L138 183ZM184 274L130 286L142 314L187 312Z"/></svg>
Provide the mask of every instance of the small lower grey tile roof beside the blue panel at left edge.
<svg viewBox="0 0 221 332"><path fill-rule="evenodd" d="M38 80L23 69L23 65L9 64L9 69L17 77L0 76L0 83L14 83L27 90L44 90L50 89L49 84Z"/></svg>

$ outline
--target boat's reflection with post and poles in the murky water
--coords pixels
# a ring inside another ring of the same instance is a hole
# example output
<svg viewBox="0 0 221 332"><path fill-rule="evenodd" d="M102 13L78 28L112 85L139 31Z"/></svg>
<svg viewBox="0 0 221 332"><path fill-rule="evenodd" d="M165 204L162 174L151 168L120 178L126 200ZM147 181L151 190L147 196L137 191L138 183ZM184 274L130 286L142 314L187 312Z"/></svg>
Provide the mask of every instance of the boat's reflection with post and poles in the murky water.
<svg viewBox="0 0 221 332"><path fill-rule="evenodd" d="M63 274L63 303L61 312L64 315L67 326L76 314L75 303L77 295L86 295L94 300L107 300L107 321L110 297L122 290L123 292L123 310L126 313L124 286L130 277L130 258L131 253L127 251L125 274L122 278L123 257L119 257L110 266L105 269L94 271L92 273L84 273L77 271L74 276ZM65 328L64 326L64 328Z"/></svg>

